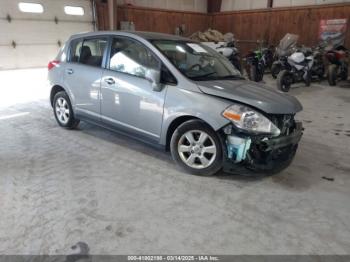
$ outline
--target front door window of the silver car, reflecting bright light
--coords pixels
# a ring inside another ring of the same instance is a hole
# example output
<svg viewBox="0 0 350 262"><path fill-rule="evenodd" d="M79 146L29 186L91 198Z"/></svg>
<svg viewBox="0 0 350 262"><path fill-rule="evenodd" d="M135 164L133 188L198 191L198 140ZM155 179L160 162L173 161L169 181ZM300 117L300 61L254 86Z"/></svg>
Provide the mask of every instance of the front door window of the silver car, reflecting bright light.
<svg viewBox="0 0 350 262"><path fill-rule="evenodd" d="M118 37L112 42L109 69L147 78L149 70L160 70L160 62L143 44Z"/></svg>

